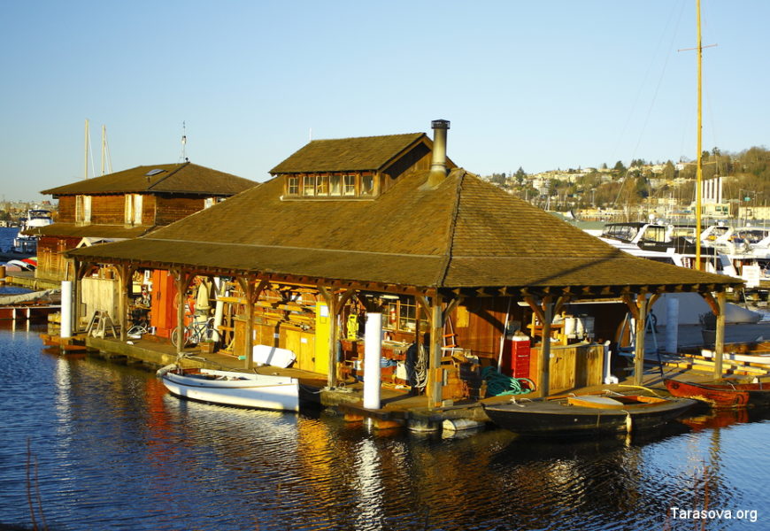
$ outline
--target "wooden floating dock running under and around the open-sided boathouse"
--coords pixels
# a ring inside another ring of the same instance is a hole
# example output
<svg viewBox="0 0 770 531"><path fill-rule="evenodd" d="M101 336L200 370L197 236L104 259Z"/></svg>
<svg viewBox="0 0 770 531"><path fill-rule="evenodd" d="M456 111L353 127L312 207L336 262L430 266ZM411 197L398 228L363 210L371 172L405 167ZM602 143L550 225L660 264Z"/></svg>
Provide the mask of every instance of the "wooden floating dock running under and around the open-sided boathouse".
<svg viewBox="0 0 770 531"><path fill-rule="evenodd" d="M680 344L693 347L700 335L699 327L681 327ZM730 342L752 342L761 337L770 337L770 323L755 325L728 326L727 338ZM146 364L152 370L160 366L179 363L184 367L200 367L227 371L244 371L243 360L236 358L227 351L204 353L197 348L188 348L185 356L178 360L175 347L166 339L155 336L145 336L142 339L127 339L120 341L114 337L93 337L79 335L61 343L58 337L45 336L47 344L60 345L63 354L87 349L98 352L103 358L113 361ZM672 358L667 355L667 358ZM681 359L688 356L682 354ZM381 388L381 408L378 410L363 407L363 383L349 379L341 381L335 389L327 389L326 376L295 368L279 368L274 366L258 366L257 373L277 374L296 378L301 384L301 399L306 406L326 408L344 417L346 421L367 423L377 430L389 430L406 427L412 431L435 432L441 429L463 429L466 427L481 427L489 422L481 404L490 402L505 402L510 396L492 396L481 400L467 399L460 402L444 401L440 407L428 407L427 396L413 395L410 389L396 389L392 386ZM740 377L735 374L735 377ZM661 396L667 396L664 378L678 378L686 381L710 381L712 372L704 370L696 363L664 363L658 366L657 361L650 358L645 364L643 388ZM639 389L633 384L633 376L620 378L617 384L601 384L584 388L570 389L567 392L575 394L598 392L609 389L616 392L627 392ZM526 395L525 395L526 396Z"/></svg>

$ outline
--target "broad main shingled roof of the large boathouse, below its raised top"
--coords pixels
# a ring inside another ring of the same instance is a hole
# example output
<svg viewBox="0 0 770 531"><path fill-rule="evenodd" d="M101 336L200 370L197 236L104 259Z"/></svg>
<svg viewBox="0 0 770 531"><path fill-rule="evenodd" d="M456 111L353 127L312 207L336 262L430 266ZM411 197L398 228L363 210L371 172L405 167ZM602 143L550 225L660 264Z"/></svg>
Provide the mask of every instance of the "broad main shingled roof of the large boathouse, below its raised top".
<svg viewBox="0 0 770 531"><path fill-rule="evenodd" d="M427 175L372 201L282 201L278 177L150 235L69 254L420 289L741 284L632 257L462 169L433 189Z"/></svg>

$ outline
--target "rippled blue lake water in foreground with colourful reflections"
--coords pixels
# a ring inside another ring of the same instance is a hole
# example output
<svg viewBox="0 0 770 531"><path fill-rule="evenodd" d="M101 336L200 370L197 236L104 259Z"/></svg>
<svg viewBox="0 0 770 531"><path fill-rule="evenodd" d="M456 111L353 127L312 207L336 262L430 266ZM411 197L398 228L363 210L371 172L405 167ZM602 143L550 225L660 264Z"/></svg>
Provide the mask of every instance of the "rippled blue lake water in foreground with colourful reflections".
<svg viewBox="0 0 770 531"><path fill-rule="evenodd" d="M770 527L756 414L630 443L377 433L180 401L154 373L61 357L36 332L0 327L0 529Z"/></svg>

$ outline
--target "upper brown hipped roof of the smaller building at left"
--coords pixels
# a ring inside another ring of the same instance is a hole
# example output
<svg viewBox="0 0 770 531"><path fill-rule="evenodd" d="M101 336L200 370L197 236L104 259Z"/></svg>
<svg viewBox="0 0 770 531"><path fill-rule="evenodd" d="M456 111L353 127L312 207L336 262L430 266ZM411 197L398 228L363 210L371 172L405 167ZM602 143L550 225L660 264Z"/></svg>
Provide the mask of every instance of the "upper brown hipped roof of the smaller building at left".
<svg viewBox="0 0 770 531"><path fill-rule="evenodd" d="M136 166L122 172L42 190L40 193L52 196L126 193L232 196L256 185L256 182L243 177L184 162Z"/></svg>

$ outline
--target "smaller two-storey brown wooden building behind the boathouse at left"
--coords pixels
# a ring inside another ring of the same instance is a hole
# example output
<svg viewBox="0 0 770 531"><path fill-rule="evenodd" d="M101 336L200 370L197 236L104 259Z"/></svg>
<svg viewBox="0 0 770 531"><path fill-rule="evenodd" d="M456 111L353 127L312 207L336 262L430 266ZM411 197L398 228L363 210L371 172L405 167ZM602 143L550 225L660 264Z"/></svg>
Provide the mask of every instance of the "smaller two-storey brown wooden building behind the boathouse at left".
<svg viewBox="0 0 770 531"><path fill-rule="evenodd" d="M72 280L65 251L146 235L256 185L184 162L137 166L42 190L58 199L58 219L30 231L38 236L35 276Z"/></svg>

